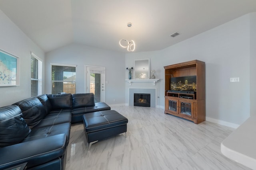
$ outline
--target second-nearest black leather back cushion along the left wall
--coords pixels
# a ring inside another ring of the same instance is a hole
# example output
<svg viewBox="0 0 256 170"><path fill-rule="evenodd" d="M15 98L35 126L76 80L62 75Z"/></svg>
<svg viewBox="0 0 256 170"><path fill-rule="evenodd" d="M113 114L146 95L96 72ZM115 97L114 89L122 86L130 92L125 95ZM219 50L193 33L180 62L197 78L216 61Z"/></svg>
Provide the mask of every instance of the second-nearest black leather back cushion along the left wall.
<svg viewBox="0 0 256 170"><path fill-rule="evenodd" d="M30 128L36 126L47 115L46 109L36 97L16 102L15 105L20 107Z"/></svg>

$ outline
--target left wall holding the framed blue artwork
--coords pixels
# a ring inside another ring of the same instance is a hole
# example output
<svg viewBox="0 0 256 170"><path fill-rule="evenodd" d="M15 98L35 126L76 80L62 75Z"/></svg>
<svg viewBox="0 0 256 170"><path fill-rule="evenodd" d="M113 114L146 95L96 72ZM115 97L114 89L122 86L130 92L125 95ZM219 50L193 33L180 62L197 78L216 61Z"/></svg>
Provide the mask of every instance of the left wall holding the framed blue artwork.
<svg viewBox="0 0 256 170"><path fill-rule="evenodd" d="M0 107L31 96L30 52L44 63L44 52L0 10L0 49L20 57L20 86L0 87ZM43 77L44 80L44 77ZM42 89L44 92L44 88Z"/></svg>

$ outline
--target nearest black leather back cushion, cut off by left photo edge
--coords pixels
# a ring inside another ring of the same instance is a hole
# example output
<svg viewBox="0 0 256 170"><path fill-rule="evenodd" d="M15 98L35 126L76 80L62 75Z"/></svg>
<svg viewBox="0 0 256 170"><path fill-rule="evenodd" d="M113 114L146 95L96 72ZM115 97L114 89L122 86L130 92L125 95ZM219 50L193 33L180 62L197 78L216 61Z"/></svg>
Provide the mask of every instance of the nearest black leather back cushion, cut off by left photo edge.
<svg viewBox="0 0 256 170"><path fill-rule="evenodd" d="M18 106L0 108L0 147L20 143L29 133L30 129Z"/></svg>

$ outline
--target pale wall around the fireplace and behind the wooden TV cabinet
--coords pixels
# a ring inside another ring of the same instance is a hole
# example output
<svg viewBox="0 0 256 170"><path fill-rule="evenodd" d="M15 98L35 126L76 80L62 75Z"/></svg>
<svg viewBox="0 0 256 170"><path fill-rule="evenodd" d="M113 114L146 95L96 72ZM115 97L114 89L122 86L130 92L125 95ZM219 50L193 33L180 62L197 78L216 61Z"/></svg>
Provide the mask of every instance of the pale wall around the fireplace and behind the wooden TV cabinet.
<svg viewBox="0 0 256 170"><path fill-rule="evenodd" d="M126 54L126 66L134 59L150 58L157 70L157 105L164 107L164 67L194 59L206 63L206 116L241 124L250 116L250 14L237 18L161 51ZM255 29L254 29L255 30ZM171 41L171 37L170 37ZM239 77L240 82L229 82ZM127 91L126 83L126 91ZM142 84L133 85L142 86ZM150 85L145 85L150 86ZM128 94L126 93L126 102Z"/></svg>

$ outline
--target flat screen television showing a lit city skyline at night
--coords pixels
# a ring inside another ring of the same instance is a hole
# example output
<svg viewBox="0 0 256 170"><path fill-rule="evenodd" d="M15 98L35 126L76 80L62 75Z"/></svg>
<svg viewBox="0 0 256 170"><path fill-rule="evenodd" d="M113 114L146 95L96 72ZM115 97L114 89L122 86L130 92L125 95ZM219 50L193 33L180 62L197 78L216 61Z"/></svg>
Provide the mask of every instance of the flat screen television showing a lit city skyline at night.
<svg viewBox="0 0 256 170"><path fill-rule="evenodd" d="M196 76L172 77L170 78L170 85L170 90L196 92Z"/></svg>

